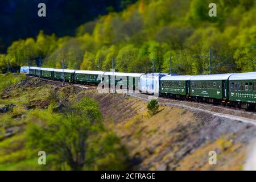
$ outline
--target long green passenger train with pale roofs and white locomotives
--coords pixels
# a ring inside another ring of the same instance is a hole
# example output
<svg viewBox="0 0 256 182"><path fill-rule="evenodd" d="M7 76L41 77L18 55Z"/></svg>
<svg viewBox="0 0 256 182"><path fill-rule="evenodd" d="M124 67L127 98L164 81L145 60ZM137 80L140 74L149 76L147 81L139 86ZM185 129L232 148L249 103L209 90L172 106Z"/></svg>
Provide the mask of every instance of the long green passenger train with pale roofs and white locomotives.
<svg viewBox="0 0 256 182"><path fill-rule="evenodd" d="M158 97L163 98L256 109L256 72L177 75L174 73L121 73L24 66L20 68L20 73L61 81L64 76L65 82L77 84L98 85L105 82L109 88L118 85L121 89L157 94Z"/></svg>

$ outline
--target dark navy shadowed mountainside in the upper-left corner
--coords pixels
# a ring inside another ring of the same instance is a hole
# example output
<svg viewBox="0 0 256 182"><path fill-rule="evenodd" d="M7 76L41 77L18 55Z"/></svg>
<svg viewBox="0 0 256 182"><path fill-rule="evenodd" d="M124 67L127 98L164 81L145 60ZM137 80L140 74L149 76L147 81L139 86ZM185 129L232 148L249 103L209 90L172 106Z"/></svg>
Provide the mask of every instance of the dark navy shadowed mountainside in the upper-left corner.
<svg viewBox="0 0 256 182"><path fill-rule="evenodd" d="M36 37L39 30L56 36L75 35L80 24L110 11L120 11L135 0L0 0L0 53L14 40ZM47 16L38 16L38 4L47 5Z"/></svg>

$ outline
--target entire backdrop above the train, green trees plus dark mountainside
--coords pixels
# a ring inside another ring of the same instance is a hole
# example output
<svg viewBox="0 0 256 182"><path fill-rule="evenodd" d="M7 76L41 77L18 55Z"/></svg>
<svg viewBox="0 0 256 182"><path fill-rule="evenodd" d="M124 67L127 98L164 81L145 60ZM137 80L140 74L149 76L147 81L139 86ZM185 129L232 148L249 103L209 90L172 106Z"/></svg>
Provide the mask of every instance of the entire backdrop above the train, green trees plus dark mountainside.
<svg viewBox="0 0 256 182"><path fill-rule="evenodd" d="M256 1L0 1L0 70L35 65L180 75L256 71ZM22 39L20 39L22 38ZM211 50L211 56L209 52ZM209 66L209 57L212 64Z"/></svg>

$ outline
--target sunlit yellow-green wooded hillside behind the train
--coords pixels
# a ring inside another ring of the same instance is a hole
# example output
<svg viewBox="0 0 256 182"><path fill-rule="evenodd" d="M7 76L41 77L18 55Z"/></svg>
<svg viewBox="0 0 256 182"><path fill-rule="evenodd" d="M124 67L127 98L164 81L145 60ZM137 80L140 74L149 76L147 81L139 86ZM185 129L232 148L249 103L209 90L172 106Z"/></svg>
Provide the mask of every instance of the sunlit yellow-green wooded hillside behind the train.
<svg viewBox="0 0 256 182"><path fill-rule="evenodd" d="M75 37L40 31L36 39L17 40L0 56L0 67L36 65L69 69L180 74L255 71L254 0L216 0L217 17L208 16L210 0L140 0L77 28Z"/></svg>

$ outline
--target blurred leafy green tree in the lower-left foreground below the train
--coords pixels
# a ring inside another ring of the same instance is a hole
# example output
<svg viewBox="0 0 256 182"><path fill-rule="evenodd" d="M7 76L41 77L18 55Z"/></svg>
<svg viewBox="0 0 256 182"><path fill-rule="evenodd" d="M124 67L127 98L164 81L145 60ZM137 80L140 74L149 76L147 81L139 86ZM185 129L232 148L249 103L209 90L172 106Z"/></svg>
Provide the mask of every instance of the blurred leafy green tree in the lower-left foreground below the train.
<svg viewBox="0 0 256 182"><path fill-rule="evenodd" d="M72 170L125 169L126 150L102 125L96 101L84 97L65 114L49 110L30 114L27 147L51 154L51 165Z"/></svg>

